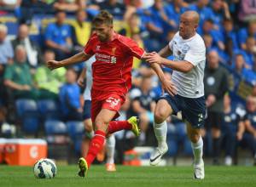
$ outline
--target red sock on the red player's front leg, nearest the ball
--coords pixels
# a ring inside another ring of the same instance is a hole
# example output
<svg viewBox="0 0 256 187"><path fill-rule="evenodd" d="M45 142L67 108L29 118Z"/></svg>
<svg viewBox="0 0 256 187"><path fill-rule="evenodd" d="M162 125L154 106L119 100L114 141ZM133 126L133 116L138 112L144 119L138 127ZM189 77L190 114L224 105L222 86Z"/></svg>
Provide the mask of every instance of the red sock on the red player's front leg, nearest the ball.
<svg viewBox="0 0 256 187"><path fill-rule="evenodd" d="M100 130L97 130L95 132L94 137L90 141L88 154L85 158L85 160L87 161L88 167L90 167L90 164L92 163L92 161L94 161L98 152L102 150L102 146L104 144L105 138L106 138L106 133Z"/></svg>

